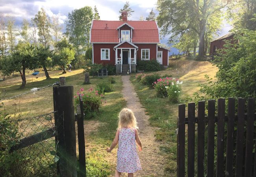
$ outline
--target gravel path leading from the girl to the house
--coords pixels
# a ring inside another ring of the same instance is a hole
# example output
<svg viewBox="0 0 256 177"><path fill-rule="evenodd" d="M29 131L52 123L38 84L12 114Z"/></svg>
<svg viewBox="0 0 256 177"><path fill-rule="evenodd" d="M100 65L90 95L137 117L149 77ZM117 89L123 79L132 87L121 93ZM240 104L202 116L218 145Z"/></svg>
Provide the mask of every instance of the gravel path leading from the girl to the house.
<svg viewBox="0 0 256 177"><path fill-rule="evenodd" d="M145 114L145 109L139 102L139 98L130 83L130 76L122 76L123 90L127 107L131 109L137 118L139 126L139 136L142 143L142 151L139 152L142 170L135 173L136 177L163 177L164 157L159 153L159 144L154 138L156 128L149 125L149 116ZM125 176L125 175L122 175Z"/></svg>

